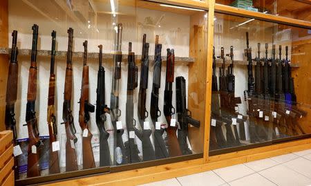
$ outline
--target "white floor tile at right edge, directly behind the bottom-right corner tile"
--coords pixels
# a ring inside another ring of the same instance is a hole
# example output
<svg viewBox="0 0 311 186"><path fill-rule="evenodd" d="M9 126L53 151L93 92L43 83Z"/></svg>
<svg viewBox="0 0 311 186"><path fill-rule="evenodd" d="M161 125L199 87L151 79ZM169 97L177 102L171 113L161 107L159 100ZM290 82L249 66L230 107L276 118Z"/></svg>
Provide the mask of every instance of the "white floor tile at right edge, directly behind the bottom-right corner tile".
<svg viewBox="0 0 311 186"><path fill-rule="evenodd" d="M298 171L300 174L311 178L311 161L305 158L297 158L289 162L283 163L286 167Z"/></svg>

